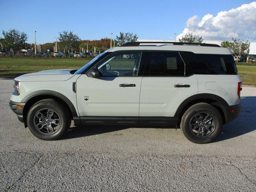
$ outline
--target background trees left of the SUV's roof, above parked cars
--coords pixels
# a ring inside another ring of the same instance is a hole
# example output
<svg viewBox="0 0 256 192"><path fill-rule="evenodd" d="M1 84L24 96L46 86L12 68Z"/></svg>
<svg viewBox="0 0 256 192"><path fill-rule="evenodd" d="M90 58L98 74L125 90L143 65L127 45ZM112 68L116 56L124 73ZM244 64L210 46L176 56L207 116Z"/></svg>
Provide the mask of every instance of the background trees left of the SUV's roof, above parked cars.
<svg viewBox="0 0 256 192"><path fill-rule="evenodd" d="M34 43L29 44L26 41L28 36L25 32L20 32L17 29L10 29L8 31L2 31L3 38L0 38L0 49L10 50L11 48L14 51L20 51L22 49L34 49ZM112 40L112 46L119 46L125 42L137 41L137 34L130 32L120 32L119 36L116 36ZM56 42L48 42L44 44L37 44L36 50L53 52L56 47ZM39 48L40 46L40 48ZM57 50L55 51L64 51L65 52L81 52L82 50L88 52L104 52L110 48L110 38L101 38L100 40L81 40L77 34L74 34L72 31L63 31L59 32L59 37L57 41Z"/></svg>

